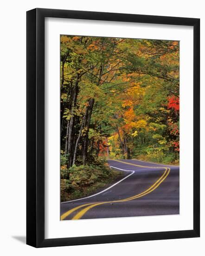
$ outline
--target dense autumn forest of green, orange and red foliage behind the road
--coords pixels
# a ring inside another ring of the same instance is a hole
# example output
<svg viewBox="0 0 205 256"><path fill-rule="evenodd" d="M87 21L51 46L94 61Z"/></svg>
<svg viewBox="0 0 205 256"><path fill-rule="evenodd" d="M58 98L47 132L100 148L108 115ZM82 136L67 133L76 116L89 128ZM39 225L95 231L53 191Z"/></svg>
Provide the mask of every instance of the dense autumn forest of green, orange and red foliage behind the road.
<svg viewBox="0 0 205 256"><path fill-rule="evenodd" d="M102 156L178 162L179 42L60 40L62 188L77 186L77 171L95 180Z"/></svg>

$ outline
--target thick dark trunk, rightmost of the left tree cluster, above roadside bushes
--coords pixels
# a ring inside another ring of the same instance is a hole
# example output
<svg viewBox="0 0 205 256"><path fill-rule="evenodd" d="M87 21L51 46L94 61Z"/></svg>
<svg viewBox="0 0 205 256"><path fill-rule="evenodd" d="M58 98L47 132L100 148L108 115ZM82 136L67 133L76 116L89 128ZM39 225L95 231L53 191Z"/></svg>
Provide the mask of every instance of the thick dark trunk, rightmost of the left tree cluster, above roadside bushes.
<svg viewBox="0 0 205 256"><path fill-rule="evenodd" d="M88 142L89 142L88 134L89 134L90 119L91 119L91 115L92 115L92 111L93 111L94 102L95 102L94 99L90 99L88 115L86 118L86 132L85 132L84 148L83 148L83 165L85 165L87 162Z"/></svg>

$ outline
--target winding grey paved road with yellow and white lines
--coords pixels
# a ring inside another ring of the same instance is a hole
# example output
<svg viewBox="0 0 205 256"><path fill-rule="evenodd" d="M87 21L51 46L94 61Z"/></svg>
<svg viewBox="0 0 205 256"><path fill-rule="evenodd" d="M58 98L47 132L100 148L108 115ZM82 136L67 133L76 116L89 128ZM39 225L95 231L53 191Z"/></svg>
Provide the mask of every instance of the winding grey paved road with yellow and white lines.
<svg viewBox="0 0 205 256"><path fill-rule="evenodd" d="M61 203L61 220L179 214L179 166L108 162L111 168L123 170L121 180L96 195Z"/></svg>

